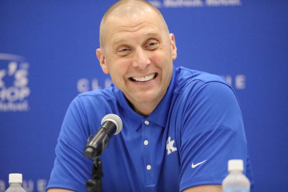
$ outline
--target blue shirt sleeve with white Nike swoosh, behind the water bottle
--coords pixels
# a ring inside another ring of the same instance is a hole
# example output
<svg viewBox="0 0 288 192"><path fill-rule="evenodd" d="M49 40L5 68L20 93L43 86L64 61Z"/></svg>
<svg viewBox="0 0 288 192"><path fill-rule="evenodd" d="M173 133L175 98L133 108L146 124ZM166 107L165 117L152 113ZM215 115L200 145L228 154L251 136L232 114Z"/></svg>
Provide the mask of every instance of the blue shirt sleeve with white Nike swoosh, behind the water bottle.
<svg viewBox="0 0 288 192"><path fill-rule="evenodd" d="M228 174L229 159L242 159L245 169L247 143L241 108L228 85L204 83L188 96L182 116L180 191L220 185Z"/></svg>

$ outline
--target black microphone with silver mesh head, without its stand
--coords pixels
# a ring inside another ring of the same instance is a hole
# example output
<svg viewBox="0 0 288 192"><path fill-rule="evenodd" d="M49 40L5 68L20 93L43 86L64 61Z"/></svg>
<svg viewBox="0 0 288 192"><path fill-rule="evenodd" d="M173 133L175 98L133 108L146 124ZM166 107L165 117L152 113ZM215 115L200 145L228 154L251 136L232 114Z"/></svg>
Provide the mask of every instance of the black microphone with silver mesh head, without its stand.
<svg viewBox="0 0 288 192"><path fill-rule="evenodd" d="M101 127L97 133L91 135L87 140L84 155L87 158L100 156L109 144L113 135L119 134L122 130L122 120L115 114L108 114L103 117Z"/></svg>

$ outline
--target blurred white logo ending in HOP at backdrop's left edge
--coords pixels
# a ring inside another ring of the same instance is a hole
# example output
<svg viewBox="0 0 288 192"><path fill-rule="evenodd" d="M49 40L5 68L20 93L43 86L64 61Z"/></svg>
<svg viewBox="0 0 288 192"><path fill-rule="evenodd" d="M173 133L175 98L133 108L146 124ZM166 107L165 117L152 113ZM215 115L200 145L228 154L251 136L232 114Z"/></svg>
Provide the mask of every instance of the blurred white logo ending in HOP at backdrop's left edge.
<svg viewBox="0 0 288 192"><path fill-rule="evenodd" d="M28 69L24 57L0 53L0 112L29 111Z"/></svg>

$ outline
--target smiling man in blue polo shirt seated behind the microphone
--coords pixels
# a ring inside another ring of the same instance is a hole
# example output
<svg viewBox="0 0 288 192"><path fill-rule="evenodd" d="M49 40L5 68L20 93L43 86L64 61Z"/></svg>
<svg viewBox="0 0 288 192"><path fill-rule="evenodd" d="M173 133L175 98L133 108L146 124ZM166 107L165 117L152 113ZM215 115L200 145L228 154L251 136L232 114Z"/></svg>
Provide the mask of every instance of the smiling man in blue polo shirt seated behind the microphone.
<svg viewBox="0 0 288 192"><path fill-rule="evenodd" d="M241 109L221 77L173 67L175 38L146 1L119 1L105 13L97 57L113 84L78 95L56 146L48 191L85 191L93 161L83 155L101 119L122 131L101 156L103 191L222 191L229 159L251 180ZM246 169L247 168L247 169Z"/></svg>

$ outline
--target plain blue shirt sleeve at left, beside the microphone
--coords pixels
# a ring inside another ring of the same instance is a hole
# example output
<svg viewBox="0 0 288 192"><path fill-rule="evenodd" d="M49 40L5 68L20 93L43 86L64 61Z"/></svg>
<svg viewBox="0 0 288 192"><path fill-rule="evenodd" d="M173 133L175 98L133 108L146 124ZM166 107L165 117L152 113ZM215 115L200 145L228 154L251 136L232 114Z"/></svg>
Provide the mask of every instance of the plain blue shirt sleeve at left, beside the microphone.
<svg viewBox="0 0 288 192"><path fill-rule="evenodd" d="M86 140L90 133L81 99L77 96L66 112L58 143L56 158L47 186L74 191L87 191L85 183L91 176L93 161L84 156ZM85 131L86 130L86 131Z"/></svg>

